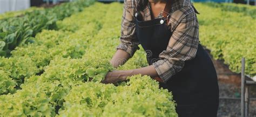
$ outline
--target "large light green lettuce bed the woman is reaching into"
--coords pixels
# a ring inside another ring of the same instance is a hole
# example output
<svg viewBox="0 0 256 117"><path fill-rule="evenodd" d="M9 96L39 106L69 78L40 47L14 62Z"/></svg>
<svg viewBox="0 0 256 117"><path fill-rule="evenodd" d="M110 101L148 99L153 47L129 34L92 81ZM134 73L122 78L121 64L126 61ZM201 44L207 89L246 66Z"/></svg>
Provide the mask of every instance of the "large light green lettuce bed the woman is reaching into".
<svg viewBox="0 0 256 117"><path fill-rule="evenodd" d="M172 94L150 77L100 83L114 70L109 60L119 43L122 10L123 4L95 3L1 58L0 116L178 116ZM139 50L118 69L145 65Z"/></svg>

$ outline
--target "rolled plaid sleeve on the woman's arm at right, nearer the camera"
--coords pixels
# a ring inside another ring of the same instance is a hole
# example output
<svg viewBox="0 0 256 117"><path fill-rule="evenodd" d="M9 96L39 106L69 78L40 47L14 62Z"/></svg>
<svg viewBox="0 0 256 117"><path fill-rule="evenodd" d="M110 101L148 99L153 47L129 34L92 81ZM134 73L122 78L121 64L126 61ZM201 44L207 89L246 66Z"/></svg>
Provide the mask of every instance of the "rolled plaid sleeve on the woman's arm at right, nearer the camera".
<svg viewBox="0 0 256 117"><path fill-rule="evenodd" d="M167 49L159 54L160 60L153 63L164 82L181 71L186 60L196 57L199 43L198 20L192 7L173 12L169 24L172 36Z"/></svg>

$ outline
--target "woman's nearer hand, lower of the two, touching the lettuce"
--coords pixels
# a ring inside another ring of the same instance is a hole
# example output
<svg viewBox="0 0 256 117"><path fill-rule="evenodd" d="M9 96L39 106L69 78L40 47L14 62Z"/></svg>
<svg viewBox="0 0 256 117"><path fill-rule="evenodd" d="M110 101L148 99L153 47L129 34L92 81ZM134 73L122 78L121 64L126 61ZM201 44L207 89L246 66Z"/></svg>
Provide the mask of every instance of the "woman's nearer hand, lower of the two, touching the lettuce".
<svg viewBox="0 0 256 117"><path fill-rule="evenodd" d="M110 84L110 83L115 83L118 81L124 81L124 80L126 80L126 77L129 76L128 74L129 73L127 73L126 71L123 71L123 70L116 70L116 71L109 72L106 74L102 83Z"/></svg>

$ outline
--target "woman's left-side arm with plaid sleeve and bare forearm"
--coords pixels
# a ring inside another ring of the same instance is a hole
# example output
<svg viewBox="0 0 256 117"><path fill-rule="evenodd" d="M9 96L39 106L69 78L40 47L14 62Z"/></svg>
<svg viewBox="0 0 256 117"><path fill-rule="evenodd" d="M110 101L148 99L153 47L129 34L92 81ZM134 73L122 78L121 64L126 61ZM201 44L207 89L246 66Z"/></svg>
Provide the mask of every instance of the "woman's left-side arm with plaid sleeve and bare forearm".
<svg viewBox="0 0 256 117"><path fill-rule="evenodd" d="M136 50L139 49L139 41L135 32L134 9L128 8L124 3L123 16L121 22L121 37L120 44L117 46L117 52L114 54L110 63L113 67L125 64L125 62L133 56Z"/></svg>

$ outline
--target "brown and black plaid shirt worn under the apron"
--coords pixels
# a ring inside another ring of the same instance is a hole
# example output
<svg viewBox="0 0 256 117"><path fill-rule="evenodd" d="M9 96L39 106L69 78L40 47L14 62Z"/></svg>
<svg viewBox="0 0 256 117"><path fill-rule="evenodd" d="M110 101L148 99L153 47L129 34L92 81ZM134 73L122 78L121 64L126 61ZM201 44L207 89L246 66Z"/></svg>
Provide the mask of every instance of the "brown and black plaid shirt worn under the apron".
<svg viewBox="0 0 256 117"><path fill-rule="evenodd" d="M132 57L138 50L138 39L135 33L134 14L137 0L124 2L121 43L117 49L122 49ZM159 54L160 60L153 63L159 77L166 82L174 74L181 71L184 61L196 56L199 43L199 25L196 13L190 0L176 0L171 6L169 27L172 32L169 44ZM144 20L151 20L150 3L142 11ZM160 13L157 18L162 17Z"/></svg>

